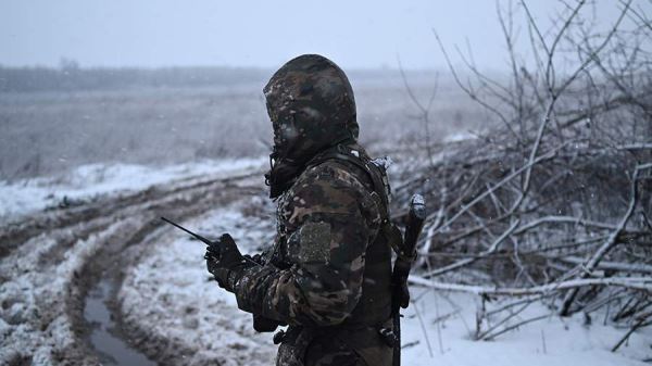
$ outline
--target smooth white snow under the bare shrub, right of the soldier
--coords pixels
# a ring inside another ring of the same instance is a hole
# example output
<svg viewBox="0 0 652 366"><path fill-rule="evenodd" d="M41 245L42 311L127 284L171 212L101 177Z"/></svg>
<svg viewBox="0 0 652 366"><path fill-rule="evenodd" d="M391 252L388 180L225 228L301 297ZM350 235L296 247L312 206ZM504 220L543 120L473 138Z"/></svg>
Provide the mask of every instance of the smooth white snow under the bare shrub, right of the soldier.
<svg viewBox="0 0 652 366"><path fill-rule="evenodd" d="M632 335L627 346L612 353L611 348L627 329L599 324L602 321L599 316L594 316L593 324L585 325L581 314L570 318L550 315L499 336L494 341L475 341L478 296L414 286L411 293L418 300L403 311L402 343L418 344L403 350L405 365L642 366L647 364L641 361L652 354L650 331ZM552 312L542 304L534 304L507 325L547 314ZM418 315L423 318L425 332ZM438 318L444 319L436 321ZM428 343L432 355L428 352Z"/></svg>

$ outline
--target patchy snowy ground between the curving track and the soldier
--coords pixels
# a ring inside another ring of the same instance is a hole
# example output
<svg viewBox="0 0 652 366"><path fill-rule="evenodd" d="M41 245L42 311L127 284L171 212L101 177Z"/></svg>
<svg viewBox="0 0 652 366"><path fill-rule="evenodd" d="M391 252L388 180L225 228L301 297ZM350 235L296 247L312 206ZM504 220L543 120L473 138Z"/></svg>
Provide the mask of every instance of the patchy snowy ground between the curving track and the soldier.
<svg viewBox="0 0 652 366"><path fill-rule="evenodd" d="M230 231L243 252L260 250L273 240L274 223L242 214L260 204L260 198L243 201L183 225L209 238ZM124 321L148 329L146 342L175 340L177 348L187 350L186 358L178 361L184 364L272 365L272 335L254 332L251 315L238 311L235 298L209 280L204 252L203 243L167 230L127 273L118 293Z"/></svg>

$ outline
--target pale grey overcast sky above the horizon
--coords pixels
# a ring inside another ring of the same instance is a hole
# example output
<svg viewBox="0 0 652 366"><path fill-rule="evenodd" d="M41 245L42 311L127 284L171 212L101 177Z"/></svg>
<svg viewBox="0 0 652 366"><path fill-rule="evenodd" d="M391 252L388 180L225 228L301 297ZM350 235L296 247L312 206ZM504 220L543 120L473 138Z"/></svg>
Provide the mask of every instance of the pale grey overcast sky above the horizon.
<svg viewBox="0 0 652 366"><path fill-rule="evenodd" d="M560 9L527 3L542 24ZM598 3L606 24L617 1ZM494 0L0 0L0 64L277 67L321 53L346 68L397 67L397 55L441 67L432 29L450 47L468 39L486 68L505 63Z"/></svg>

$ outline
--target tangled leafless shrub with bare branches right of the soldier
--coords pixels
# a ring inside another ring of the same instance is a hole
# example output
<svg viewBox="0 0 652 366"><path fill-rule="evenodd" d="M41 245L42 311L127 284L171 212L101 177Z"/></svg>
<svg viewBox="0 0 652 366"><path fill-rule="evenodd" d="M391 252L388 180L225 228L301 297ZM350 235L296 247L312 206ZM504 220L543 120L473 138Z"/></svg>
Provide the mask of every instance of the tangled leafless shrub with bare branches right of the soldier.
<svg viewBox="0 0 652 366"><path fill-rule="evenodd" d="M413 282L484 304L519 298L478 312L478 339L549 316L513 324L540 300L563 316L609 307L632 329L652 319L651 23L634 0L619 2L607 29L587 11L594 4L561 3L550 29L525 1L499 7L507 80L457 50L472 75L463 78L435 34L457 85L497 127L409 164L396 189L397 202L416 190L431 206ZM516 12L534 61L516 49Z"/></svg>

